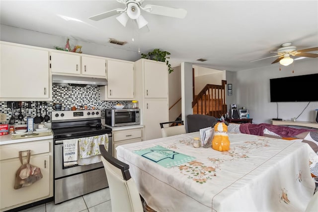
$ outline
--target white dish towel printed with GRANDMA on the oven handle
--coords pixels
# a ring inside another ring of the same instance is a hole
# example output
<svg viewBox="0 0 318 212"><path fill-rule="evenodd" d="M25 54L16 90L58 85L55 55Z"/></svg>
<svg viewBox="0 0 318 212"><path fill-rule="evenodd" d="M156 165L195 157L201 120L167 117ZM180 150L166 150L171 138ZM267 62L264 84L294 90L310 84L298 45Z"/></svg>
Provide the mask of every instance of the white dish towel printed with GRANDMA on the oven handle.
<svg viewBox="0 0 318 212"><path fill-rule="evenodd" d="M73 166L78 164L78 140L79 139L68 139L63 140L63 165Z"/></svg>

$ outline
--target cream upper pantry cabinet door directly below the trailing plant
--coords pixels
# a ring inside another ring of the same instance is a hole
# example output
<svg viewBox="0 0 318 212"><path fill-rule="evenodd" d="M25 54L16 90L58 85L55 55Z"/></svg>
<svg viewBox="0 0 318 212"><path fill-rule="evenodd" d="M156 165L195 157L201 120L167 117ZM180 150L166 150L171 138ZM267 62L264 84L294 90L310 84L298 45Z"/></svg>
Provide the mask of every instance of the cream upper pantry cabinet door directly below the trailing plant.
<svg viewBox="0 0 318 212"><path fill-rule="evenodd" d="M168 97L168 70L165 63L144 61L145 98Z"/></svg>

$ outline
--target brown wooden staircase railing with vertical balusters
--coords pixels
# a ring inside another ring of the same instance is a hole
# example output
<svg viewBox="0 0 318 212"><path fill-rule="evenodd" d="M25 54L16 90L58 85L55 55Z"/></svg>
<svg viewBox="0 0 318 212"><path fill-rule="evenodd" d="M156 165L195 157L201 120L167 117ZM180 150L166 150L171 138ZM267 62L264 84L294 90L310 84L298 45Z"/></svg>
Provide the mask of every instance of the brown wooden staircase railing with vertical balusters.
<svg viewBox="0 0 318 212"><path fill-rule="evenodd" d="M211 115L216 118L225 115L228 111L225 103L226 80L222 80L222 85L207 84L192 102L193 114Z"/></svg>

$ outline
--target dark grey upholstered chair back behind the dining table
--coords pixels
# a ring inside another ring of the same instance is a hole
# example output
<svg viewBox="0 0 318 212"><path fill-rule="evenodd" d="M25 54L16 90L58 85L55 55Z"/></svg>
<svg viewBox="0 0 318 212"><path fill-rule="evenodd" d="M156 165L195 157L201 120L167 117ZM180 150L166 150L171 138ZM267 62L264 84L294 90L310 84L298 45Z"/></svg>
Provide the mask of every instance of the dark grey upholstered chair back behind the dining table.
<svg viewBox="0 0 318 212"><path fill-rule="evenodd" d="M214 116L202 114L189 114L187 115L188 132L200 131L200 129L214 126L218 120Z"/></svg>

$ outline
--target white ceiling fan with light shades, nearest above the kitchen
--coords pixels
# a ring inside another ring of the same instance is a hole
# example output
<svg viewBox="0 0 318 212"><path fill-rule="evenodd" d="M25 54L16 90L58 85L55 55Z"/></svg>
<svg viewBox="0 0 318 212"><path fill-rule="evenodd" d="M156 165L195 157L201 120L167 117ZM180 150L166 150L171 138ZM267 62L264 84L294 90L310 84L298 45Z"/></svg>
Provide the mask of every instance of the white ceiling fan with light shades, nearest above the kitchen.
<svg viewBox="0 0 318 212"><path fill-rule="evenodd" d="M108 18L118 13L121 13L116 19L126 26L127 21L130 19L136 20L139 28L142 28L148 24L148 21L141 15L141 10L151 14L164 15L169 17L184 18L187 11L182 8L172 8L166 6L147 4L142 6L144 0L117 0L120 3L126 4L125 8L112 9L107 12L103 12L89 17L92 20L101 20Z"/></svg>

